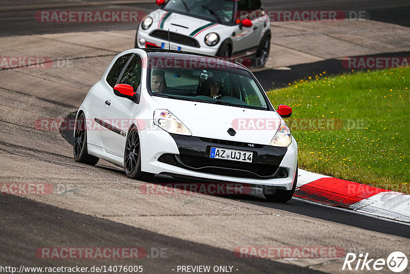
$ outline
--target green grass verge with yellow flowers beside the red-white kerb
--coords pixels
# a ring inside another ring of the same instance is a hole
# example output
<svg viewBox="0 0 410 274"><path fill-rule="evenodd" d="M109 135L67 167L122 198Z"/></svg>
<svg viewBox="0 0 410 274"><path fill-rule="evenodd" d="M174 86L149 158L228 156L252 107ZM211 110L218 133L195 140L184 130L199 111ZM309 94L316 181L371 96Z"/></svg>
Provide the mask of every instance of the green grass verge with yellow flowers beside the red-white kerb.
<svg viewBox="0 0 410 274"><path fill-rule="evenodd" d="M293 108L300 168L410 193L409 68L323 72L268 96Z"/></svg>

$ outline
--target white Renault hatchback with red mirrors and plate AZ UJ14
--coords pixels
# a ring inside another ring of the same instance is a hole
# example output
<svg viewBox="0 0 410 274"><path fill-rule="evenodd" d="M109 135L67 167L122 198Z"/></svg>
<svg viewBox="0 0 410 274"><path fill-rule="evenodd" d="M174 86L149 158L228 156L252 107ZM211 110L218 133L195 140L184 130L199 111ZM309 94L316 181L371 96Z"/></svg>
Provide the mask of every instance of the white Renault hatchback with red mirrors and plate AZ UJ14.
<svg viewBox="0 0 410 274"><path fill-rule="evenodd" d="M297 144L255 76L238 63L189 52L118 54L76 114L74 159L99 158L129 178L153 174L257 186L292 198Z"/></svg>

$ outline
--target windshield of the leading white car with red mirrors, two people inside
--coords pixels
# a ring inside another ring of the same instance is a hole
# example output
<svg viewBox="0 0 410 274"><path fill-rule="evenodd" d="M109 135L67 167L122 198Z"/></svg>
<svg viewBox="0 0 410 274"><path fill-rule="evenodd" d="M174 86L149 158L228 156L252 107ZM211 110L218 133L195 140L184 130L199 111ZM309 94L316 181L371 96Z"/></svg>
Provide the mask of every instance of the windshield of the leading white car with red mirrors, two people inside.
<svg viewBox="0 0 410 274"><path fill-rule="evenodd" d="M264 91L236 64L212 57L149 57L149 91L154 96L268 110Z"/></svg>

